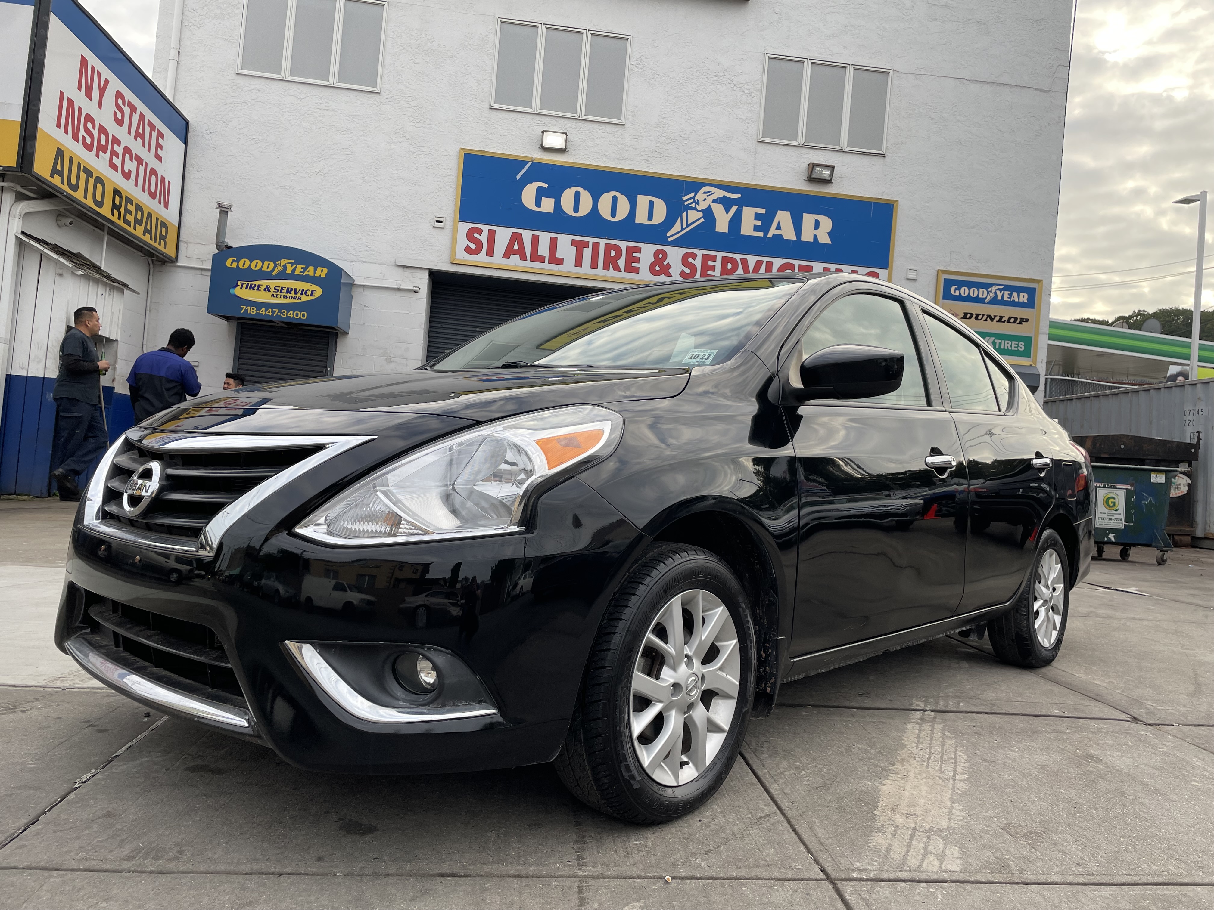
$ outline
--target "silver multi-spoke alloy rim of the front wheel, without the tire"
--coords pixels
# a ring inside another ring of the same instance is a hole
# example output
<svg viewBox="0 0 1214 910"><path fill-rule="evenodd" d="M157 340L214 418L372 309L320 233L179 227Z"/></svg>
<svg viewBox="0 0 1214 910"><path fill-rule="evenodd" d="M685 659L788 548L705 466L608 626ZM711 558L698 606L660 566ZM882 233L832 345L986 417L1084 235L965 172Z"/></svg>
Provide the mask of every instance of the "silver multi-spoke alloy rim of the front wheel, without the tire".
<svg viewBox="0 0 1214 910"><path fill-rule="evenodd" d="M742 659L733 618L708 591L670 598L632 669L632 746L645 773L677 786L699 777L725 744Z"/></svg>

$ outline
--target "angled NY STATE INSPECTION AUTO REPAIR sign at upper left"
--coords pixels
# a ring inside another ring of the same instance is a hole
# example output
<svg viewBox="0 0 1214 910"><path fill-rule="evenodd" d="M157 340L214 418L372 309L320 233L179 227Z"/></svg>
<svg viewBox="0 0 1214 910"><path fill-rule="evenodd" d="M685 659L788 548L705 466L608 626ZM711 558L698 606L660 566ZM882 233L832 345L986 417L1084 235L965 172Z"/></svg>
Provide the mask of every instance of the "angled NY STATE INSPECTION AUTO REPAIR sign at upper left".
<svg viewBox="0 0 1214 910"><path fill-rule="evenodd" d="M75 0L38 0L34 18L23 169L175 260L188 121Z"/></svg>

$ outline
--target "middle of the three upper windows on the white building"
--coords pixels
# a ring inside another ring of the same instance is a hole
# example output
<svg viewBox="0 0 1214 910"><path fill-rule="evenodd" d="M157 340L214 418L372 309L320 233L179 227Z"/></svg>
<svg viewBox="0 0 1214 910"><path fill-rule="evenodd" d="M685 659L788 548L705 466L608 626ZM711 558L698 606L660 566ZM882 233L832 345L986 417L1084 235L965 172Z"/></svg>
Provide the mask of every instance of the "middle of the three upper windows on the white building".
<svg viewBox="0 0 1214 910"><path fill-rule="evenodd" d="M624 121L624 35L498 21L493 107Z"/></svg>

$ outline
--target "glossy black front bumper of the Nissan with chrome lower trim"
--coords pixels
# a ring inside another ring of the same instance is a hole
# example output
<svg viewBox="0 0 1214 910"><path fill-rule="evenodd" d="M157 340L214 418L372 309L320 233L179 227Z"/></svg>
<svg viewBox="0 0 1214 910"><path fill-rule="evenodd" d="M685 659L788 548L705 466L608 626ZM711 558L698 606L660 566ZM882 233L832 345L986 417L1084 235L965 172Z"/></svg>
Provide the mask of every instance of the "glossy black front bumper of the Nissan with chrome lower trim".
<svg viewBox="0 0 1214 910"><path fill-rule="evenodd" d="M257 545L225 538L216 556L195 557L78 524L56 643L129 698L265 743L304 768L398 774L544 762L563 741L609 593L645 542L575 477L539 500L529 533L467 541L337 551L277 529ZM367 597L352 609L307 603L316 585L305 579L317 576L359 579ZM172 660L157 666L160 652L138 642L124 650L120 632L90 618L101 603L152 625L210 630L238 688L177 678ZM475 673L495 710L399 723L359 716L289 642L442 649Z"/></svg>

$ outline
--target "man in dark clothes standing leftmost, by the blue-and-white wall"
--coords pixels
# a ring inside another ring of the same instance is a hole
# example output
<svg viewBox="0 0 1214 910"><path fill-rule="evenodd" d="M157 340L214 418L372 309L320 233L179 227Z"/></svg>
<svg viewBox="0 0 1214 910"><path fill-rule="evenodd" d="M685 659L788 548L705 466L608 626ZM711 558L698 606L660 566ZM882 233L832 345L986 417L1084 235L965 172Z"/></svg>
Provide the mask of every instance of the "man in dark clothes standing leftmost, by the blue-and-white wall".
<svg viewBox="0 0 1214 910"><path fill-rule="evenodd" d="M59 345L59 375L55 379L55 457L58 465L51 478L59 488L59 499L76 502L80 488L75 478L89 470L106 450L106 420L101 413L101 375L108 360L97 359L93 336L101 334L101 317L92 307L80 307L73 314L75 326L68 329Z"/></svg>

